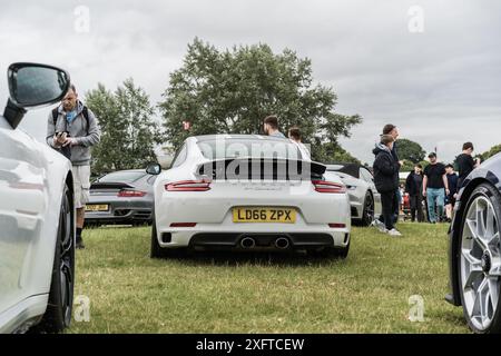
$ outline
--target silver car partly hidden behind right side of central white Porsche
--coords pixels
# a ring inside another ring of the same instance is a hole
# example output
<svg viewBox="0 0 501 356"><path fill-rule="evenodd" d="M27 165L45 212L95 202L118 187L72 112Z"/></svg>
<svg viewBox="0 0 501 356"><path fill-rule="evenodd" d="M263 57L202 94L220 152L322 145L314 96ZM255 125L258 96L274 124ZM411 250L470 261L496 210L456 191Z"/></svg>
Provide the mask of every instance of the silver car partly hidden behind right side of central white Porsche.
<svg viewBox="0 0 501 356"><path fill-rule="evenodd" d="M327 171L336 172L345 184L353 222L370 226L382 211L381 195L374 185L372 172L357 164L326 165Z"/></svg>

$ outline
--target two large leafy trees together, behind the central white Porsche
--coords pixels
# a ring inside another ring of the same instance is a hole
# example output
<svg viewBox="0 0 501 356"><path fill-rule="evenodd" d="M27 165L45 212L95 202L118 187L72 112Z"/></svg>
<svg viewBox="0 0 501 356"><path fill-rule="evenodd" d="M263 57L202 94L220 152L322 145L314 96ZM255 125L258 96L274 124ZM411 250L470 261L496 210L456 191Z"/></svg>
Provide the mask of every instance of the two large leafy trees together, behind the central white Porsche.
<svg viewBox="0 0 501 356"><path fill-rule="evenodd" d="M362 118L336 112L333 88L315 83L311 60L289 49L274 53L259 43L218 50L196 38L157 106L132 79L115 91L99 83L85 101L102 130L92 152L97 174L145 167L156 161L158 145L176 149L188 136L261 134L268 115L278 116L283 132L298 126L313 159L360 162L338 139Z"/></svg>

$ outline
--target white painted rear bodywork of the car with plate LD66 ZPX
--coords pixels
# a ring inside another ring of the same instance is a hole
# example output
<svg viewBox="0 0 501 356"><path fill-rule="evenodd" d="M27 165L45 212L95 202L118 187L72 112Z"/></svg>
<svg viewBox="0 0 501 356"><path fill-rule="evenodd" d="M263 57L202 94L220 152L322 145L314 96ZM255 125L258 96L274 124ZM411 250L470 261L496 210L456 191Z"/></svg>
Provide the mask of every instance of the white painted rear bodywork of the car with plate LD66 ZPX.
<svg viewBox="0 0 501 356"><path fill-rule="evenodd" d="M337 247L347 245L346 235L351 231L347 194L320 194L311 181L213 180L208 191L167 191L165 185L169 182L199 178L196 168L210 161L202 155L196 142L196 137L188 138L184 164L163 171L155 182L155 220L160 247L186 247L198 233L317 233L331 235ZM342 184L335 174L325 172L324 177ZM297 220L295 224L233 222L232 208L239 206L294 207ZM173 222L197 225L175 228L170 227ZM344 227L328 226L335 222L344 224ZM161 240L164 233L171 234L170 243Z"/></svg>

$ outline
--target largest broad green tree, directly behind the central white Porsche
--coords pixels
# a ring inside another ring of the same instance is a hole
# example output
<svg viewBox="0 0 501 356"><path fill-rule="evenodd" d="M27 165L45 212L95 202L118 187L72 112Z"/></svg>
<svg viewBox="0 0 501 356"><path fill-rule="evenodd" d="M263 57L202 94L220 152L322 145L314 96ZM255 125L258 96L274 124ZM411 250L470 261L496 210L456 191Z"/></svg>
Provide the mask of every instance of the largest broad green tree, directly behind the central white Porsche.
<svg viewBox="0 0 501 356"><path fill-rule="evenodd" d="M174 147L190 135L259 134L263 119L277 115L282 131L298 126L304 142L334 145L316 148L313 158L318 159L333 147L341 149L337 138L348 137L362 121L357 115L336 113L336 100L332 88L313 85L310 59L292 50L275 55L256 44L219 51L195 39L183 67L170 75L159 108ZM183 121L191 122L189 131Z"/></svg>

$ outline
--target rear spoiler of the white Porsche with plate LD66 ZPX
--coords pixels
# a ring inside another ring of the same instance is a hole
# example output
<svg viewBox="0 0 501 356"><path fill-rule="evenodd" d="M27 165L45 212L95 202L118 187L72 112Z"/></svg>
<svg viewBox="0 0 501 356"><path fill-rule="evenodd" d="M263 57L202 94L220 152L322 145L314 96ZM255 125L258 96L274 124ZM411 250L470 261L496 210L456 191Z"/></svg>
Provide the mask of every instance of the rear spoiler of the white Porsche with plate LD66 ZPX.
<svg viewBox="0 0 501 356"><path fill-rule="evenodd" d="M299 159L227 158L199 165L195 174L209 179L322 179L326 166Z"/></svg>

